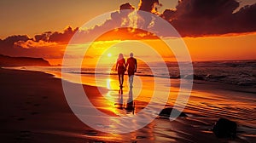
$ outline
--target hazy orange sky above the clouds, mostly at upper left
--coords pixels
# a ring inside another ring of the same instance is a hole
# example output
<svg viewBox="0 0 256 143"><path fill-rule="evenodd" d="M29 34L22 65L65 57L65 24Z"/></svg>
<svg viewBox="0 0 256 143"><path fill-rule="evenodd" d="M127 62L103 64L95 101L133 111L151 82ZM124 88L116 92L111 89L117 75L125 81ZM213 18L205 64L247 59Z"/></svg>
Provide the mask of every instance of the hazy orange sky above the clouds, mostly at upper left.
<svg viewBox="0 0 256 143"><path fill-rule="evenodd" d="M178 0L160 0L165 9L174 9ZM238 9L255 3L255 0L240 0ZM79 27L97 15L114 11L122 3L137 7L139 0L3 0L0 1L0 38L27 34L32 37L44 31L61 31L66 26Z"/></svg>

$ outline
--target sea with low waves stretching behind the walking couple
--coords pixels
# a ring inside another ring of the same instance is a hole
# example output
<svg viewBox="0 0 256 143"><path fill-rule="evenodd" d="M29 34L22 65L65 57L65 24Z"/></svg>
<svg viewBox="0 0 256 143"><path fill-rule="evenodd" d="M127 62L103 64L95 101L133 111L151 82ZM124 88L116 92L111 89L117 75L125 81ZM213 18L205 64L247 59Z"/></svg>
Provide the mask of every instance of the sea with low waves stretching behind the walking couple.
<svg viewBox="0 0 256 143"><path fill-rule="evenodd" d="M162 78L187 78L193 76L195 81L207 81L210 83L226 83L239 85L241 87L256 88L256 60L220 60L220 61L194 61L193 71L186 72L187 75L180 75L180 68L176 62L152 63L148 65L138 65L136 76L141 77L162 77ZM184 63L183 65L185 65ZM167 66L169 73L163 73ZM66 73L86 75L116 75L113 68L102 67L73 67L73 66L26 66L18 67L23 70L43 71L50 73L60 73L61 68ZM154 70L154 74L151 69Z"/></svg>

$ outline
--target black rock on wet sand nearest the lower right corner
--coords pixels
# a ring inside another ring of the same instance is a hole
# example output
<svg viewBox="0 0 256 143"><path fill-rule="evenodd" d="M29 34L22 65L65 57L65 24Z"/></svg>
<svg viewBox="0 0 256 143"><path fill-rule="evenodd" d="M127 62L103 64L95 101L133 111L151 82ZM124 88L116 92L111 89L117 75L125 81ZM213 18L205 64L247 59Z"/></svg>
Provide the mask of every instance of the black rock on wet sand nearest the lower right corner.
<svg viewBox="0 0 256 143"><path fill-rule="evenodd" d="M213 133L218 138L235 138L236 137L236 123L225 118L219 118L217 123L213 126Z"/></svg>

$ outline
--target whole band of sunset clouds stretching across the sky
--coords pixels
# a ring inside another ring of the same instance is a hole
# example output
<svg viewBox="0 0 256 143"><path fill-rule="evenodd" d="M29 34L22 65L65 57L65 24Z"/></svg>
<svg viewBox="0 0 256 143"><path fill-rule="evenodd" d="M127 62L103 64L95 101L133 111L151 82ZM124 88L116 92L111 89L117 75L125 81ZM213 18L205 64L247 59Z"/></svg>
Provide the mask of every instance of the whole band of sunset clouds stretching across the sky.
<svg viewBox="0 0 256 143"><path fill-rule="evenodd" d="M256 3L245 6L240 10L236 0L180 0L176 9L166 9L163 14L157 12L159 0L141 0L138 9L153 13L154 16L147 16L138 13L137 18L131 16L135 9L130 3L119 6L119 10L113 12L110 18L102 25L96 25L90 29L82 30L68 26L64 31L45 31L42 34L28 37L26 35L10 36L0 39L0 54L18 54L15 50L44 49L45 47L56 47L65 45L75 33L77 41L87 42L102 31L106 31L108 37L99 37L96 40L128 40L157 38L148 30L162 29L160 21L156 17L162 17L176 28L183 37L201 37L210 35L221 35L228 33L240 33L256 31ZM126 9L131 9L130 11ZM116 27L130 26L131 28ZM88 27L89 28L89 27ZM113 31L108 31L112 29ZM163 30L165 31L165 30ZM169 36L171 33L160 33L162 36Z"/></svg>

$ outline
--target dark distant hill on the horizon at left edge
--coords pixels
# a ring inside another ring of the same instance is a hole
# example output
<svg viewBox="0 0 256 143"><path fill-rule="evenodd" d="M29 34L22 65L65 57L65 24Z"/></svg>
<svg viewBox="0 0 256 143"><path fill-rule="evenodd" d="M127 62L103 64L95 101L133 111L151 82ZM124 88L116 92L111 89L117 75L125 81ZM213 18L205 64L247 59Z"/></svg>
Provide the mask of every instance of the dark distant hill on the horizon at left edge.
<svg viewBox="0 0 256 143"><path fill-rule="evenodd" d="M0 66L50 66L43 58L10 57L0 54Z"/></svg>

